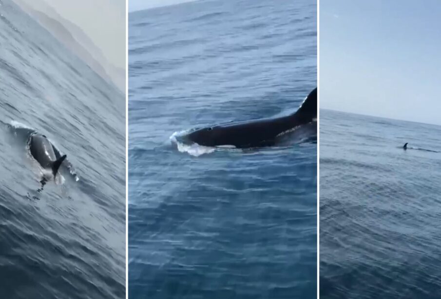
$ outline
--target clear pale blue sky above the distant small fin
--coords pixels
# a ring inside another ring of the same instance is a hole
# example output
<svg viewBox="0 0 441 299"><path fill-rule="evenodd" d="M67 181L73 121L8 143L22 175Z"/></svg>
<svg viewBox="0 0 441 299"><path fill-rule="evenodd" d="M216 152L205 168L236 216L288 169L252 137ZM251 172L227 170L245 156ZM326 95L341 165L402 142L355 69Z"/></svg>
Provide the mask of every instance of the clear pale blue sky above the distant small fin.
<svg viewBox="0 0 441 299"><path fill-rule="evenodd" d="M441 124L441 1L320 1L320 107Z"/></svg>

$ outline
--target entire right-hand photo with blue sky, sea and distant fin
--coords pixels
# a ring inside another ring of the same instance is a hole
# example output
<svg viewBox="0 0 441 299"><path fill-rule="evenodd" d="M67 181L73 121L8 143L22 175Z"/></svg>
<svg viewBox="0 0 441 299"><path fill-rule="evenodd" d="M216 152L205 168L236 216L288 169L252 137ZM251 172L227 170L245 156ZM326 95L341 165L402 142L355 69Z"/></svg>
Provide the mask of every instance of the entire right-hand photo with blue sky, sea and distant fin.
<svg viewBox="0 0 441 299"><path fill-rule="evenodd" d="M439 1L320 3L320 298L440 298Z"/></svg>

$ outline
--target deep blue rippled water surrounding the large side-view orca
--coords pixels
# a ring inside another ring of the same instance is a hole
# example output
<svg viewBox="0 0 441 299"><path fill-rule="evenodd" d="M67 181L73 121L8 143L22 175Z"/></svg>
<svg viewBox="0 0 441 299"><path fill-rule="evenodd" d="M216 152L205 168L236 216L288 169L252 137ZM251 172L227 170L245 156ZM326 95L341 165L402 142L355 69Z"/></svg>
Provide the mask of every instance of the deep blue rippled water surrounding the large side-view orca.
<svg viewBox="0 0 441 299"><path fill-rule="evenodd" d="M316 298L316 144L169 140L296 111L316 61L315 1L129 15L129 298Z"/></svg>

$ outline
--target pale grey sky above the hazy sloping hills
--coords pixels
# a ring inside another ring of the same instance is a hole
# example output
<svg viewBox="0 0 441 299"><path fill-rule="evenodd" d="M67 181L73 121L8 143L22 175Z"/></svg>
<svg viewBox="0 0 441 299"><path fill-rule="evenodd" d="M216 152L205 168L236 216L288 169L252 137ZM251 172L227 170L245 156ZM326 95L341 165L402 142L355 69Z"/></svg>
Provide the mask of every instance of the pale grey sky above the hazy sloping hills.
<svg viewBox="0 0 441 299"><path fill-rule="evenodd" d="M126 65L125 0L43 0L79 26L117 67ZM27 3L35 0L25 0ZM35 5L32 5L35 7Z"/></svg>

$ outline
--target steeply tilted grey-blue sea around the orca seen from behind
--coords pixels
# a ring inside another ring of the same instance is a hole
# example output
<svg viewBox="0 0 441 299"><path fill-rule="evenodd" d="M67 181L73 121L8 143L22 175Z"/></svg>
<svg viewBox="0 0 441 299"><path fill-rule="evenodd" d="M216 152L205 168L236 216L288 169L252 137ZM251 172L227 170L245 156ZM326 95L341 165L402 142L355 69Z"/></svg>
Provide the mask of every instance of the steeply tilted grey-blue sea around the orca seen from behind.
<svg viewBox="0 0 441 299"><path fill-rule="evenodd" d="M0 297L124 298L124 95L11 0L0 44ZM42 191L32 132L67 155Z"/></svg>

